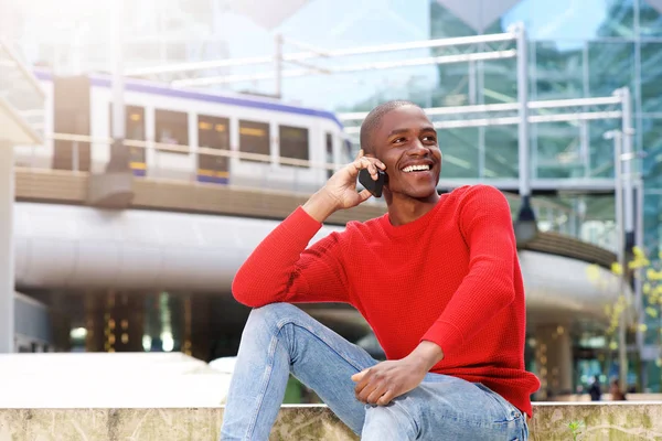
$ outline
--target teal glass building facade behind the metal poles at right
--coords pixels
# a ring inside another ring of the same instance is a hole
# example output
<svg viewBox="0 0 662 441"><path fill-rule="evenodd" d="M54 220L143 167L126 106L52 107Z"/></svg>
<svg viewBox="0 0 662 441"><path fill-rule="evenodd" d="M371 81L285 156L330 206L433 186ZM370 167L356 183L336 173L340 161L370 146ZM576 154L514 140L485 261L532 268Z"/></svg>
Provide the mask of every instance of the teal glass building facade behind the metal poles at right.
<svg viewBox="0 0 662 441"><path fill-rule="evenodd" d="M513 22L523 22L530 36L530 99L566 99L610 96L627 86L632 93L633 148L643 153L631 166L643 180L643 226L645 251L656 260L660 247L660 196L662 194L662 2L656 0L544 0L430 2L430 37L500 33ZM439 67L435 106L448 105L448 97L462 104L510 103L513 61L482 63L474 72ZM471 79L477 75L477 79ZM472 84L473 83L473 84ZM580 123L547 122L531 126L532 176L538 179L599 179L613 176L612 141L604 133L620 121ZM516 176L516 127L462 129L450 133L448 152L470 166L446 164L445 173L457 178ZM484 149L480 149L484 146ZM479 149L476 149L479 147ZM484 158L480 155L484 154ZM509 165L510 164L510 165ZM478 165L478 166L477 166ZM482 168L481 168L482 165ZM626 176L628 179L628 176ZM559 197L572 203L576 197ZM587 216L613 216L612 196L579 196ZM612 218L612 217L611 217ZM656 263L653 263L656 265ZM644 297L645 306L654 306ZM658 353L660 321L656 314L644 320L644 345ZM576 347L581 346L575 342ZM647 352L647 351L644 351ZM650 355L649 355L650 356ZM645 357L644 357L645 358ZM578 361L583 370L587 361ZM660 362L650 361L641 372L651 390L660 391ZM586 370L586 369L584 369ZM595 373L590 373L592 375ZM610 372L609 374L613 374ZM577 378L580 383L580 378Z"/></svg>

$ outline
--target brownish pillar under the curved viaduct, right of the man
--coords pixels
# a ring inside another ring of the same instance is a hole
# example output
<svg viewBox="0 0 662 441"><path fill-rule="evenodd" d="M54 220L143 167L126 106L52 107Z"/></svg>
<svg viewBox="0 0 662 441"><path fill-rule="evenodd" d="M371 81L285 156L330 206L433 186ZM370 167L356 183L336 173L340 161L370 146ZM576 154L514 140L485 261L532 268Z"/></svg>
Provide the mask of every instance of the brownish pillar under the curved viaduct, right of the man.
<svg viewBox="0 0 662 441"><path fill-rule="evenodd" d="M573 342L565 325L536 327L535 356L542 398L573 392Z"/></svg>

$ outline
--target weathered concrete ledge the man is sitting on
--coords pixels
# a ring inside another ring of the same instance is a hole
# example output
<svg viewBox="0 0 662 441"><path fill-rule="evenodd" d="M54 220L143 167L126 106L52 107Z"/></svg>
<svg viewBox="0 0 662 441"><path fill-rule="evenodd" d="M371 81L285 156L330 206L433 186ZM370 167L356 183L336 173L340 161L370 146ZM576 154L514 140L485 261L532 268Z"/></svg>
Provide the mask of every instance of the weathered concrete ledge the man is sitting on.
<svg viewBox="0 0 662 441"><path fill-rule="evenodd" d="M531 440L662 439L662 402L535 404ZM0 440L217 440L223 408L0 409ZM325 406L284 406L269 440L355 441Z"/></svg>

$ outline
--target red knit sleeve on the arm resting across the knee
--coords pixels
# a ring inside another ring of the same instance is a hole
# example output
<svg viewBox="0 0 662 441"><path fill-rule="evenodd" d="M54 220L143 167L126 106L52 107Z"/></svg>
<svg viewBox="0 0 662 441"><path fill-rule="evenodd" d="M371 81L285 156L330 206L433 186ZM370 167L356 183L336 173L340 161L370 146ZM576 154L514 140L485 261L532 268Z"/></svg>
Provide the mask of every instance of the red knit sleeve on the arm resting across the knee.
<svg viewBox="0 0 662 441"><path fill-rule="evenodd" d="M459 213L469 247L469 272L421 341L438 344L446 355L470 341L515 297L516 245L510 206L496 189L471 189Z"/></svg>

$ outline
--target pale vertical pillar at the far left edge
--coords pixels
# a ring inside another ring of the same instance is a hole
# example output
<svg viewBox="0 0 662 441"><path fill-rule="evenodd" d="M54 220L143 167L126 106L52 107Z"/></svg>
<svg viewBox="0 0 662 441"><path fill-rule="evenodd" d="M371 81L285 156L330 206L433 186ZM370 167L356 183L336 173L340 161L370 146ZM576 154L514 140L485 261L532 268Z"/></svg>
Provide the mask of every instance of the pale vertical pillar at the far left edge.
<svg viewBox="0 0 662 441"><path fill-rule="evenodd" d="M14 351L13 146L0 139L0 354Z"/></svg>

